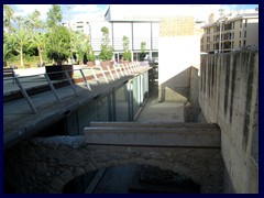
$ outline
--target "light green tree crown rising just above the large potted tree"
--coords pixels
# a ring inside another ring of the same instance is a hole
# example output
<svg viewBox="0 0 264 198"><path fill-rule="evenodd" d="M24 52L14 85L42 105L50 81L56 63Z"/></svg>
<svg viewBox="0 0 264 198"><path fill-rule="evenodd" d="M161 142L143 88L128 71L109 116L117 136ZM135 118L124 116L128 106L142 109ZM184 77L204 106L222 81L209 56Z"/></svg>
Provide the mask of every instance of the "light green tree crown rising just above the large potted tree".
<svg viewBox="0 0 264 198"><path fill-rule="evenodd" d="M52 8L47 12L46 25L48 29L53 29L54 26L58 26L63 20L62 9L57 4L53 4Z"/></svg>

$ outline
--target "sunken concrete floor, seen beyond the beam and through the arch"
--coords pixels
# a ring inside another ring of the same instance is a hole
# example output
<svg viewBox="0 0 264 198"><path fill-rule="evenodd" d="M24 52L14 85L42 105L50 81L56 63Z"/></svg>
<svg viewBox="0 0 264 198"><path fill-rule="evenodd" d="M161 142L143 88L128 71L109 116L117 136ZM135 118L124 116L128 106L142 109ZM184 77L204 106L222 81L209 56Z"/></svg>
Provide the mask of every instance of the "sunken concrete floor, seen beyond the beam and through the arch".
<svg viewBox="0 0 264 198"><path fill-rule="evenodd" d="M157 91L152 92L136 122L184 122L183 102L158 102ZM131 194L130 186L138 183L140 165L106 168L94 194ZM140 184L139 184L140 185Z"/></svg>

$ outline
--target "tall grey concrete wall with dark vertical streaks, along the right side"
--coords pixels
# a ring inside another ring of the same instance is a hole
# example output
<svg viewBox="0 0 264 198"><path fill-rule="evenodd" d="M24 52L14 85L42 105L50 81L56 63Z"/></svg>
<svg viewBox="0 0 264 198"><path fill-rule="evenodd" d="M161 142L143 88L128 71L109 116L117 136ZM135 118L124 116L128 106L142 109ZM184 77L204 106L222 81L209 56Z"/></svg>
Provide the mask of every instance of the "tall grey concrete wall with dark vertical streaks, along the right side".
<svg viewBox="0 0 264 198"><path fill-rule="evenodd" d="M221 128L226 191L258 193L258 48L204 55L200 74L200 107Z"/></svg>

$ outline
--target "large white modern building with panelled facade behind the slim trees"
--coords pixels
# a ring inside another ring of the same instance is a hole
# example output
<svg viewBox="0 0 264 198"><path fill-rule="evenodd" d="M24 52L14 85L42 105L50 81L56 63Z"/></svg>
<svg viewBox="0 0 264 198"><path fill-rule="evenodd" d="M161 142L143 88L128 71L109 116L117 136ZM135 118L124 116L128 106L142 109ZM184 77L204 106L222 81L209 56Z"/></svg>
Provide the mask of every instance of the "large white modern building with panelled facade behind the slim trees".
<svg viewBox="0 0 264 198"><path fill-rule="evenodd" d="M123 36L130 41L133 59L140 59L141 43L145 43L146 57L158 57L160 21L162 18L193 15L197 25L205 21L206 6L190 4L112 4L108 8L105 19L87 22L64 22L73 30L84 30L90 36L95 54L100 53L101 28L107 26L110 32L110 42L114 50L114 58L119 61L123 52Z"/></svg>

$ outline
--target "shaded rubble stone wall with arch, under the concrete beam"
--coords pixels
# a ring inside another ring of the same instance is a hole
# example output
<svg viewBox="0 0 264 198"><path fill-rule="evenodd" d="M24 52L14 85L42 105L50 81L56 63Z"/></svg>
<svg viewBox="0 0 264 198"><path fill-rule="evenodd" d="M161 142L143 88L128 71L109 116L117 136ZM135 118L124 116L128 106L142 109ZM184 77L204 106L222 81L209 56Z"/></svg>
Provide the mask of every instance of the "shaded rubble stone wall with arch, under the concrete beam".
<svg viewBox="0 0 264 198"><path fill-rule="evenodd" d="M122 165L152 165L190 177L202 194L222 193L219 148L92 145L84 136L37 138L6 152L4 180L15 193L62 193L72 179Z"/></svg>

